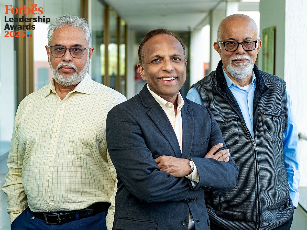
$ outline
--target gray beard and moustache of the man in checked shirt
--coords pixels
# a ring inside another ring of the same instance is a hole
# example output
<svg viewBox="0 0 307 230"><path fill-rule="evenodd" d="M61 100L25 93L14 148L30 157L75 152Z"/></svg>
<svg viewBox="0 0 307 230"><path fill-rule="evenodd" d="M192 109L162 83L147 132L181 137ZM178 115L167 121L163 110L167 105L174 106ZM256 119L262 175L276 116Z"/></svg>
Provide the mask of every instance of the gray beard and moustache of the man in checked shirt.
<svg viewBox="0 0 307 230"><path fill-rule="evenodd" d="M49 56L49 66L50 66L50 69L51 69L52 77L56 81L56 83L58 83L60 86L67 87L67 86L77 85L78 83L80 83L84 79L84 77L87 74L89 60L90 60L90 58L87 56L87 62L85 64L84 68L78 73L77 67L74 64L68 63L68 62L61 62L61 63L58 64L56 69L54 69L51 66L50 56ZM70 68L73 68L75 70L75 73L71 76L60 75L59 69L63 66L68 66Z"/></svg>

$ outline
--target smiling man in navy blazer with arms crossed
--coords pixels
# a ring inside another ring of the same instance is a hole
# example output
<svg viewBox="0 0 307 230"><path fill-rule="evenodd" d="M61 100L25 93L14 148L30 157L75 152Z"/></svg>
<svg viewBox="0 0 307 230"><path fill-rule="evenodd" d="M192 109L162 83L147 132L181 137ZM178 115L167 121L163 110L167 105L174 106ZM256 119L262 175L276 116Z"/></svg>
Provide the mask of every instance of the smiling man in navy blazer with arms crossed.
<svg viewBox="0 0 307 230"><path fill-rule="evenodd" d="M147 84L108 113L107 146L118 175L113 229L210 229L203 189L226 191L237 182L212 114L179 93L186 64L177 34L149 32L138 64Z"/></svg>

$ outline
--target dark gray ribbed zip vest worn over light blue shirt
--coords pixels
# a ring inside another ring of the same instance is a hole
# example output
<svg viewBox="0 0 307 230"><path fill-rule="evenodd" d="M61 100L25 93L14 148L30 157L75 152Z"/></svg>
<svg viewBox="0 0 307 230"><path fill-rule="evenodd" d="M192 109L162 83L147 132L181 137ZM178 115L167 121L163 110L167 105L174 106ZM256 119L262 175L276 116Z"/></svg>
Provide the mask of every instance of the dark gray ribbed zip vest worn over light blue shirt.
<svg viewBox="0 0 307 230"><path fill-rule="evenodd" d="M216 71L191 86L213 113L239 167L235 188L205 191L207 211L211 222L226 229L270 230L293 215L282 144L288 125L286 82L254 65L253 139L222 68L220 61Z"/></svg>

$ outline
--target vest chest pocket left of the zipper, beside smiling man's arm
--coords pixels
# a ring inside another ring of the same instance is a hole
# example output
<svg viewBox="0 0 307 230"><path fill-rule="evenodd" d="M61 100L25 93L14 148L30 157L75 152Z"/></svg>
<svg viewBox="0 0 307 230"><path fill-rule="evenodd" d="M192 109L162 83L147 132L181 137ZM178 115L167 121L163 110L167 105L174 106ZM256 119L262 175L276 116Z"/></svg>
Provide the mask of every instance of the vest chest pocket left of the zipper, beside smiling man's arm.
<svg viewBox="0 0 307 230"><path fill-rule="evenodd" d="M235 145L239 142L239 117L235 113L213 113L214 119L222 131L226 146Z"/></svg>

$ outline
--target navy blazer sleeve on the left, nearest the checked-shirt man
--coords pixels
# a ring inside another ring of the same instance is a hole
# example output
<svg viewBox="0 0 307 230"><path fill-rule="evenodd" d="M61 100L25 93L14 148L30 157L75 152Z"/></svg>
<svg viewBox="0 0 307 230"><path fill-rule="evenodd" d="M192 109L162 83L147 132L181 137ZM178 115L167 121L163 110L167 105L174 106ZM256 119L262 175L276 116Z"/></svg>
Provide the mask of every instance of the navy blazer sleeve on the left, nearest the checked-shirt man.
<svg viewBox="0 0 307 230"><path fill-rule="evenodd" d="M160 171L140 126L124 109L115 106L110 110L106 135L118 180L140 201L181 201L188 197L192 191L188 180Z"/></svg>

